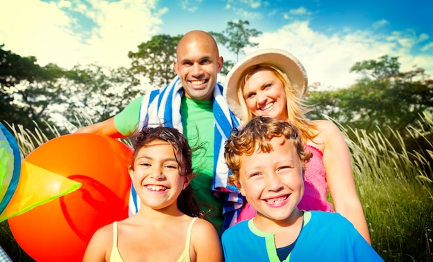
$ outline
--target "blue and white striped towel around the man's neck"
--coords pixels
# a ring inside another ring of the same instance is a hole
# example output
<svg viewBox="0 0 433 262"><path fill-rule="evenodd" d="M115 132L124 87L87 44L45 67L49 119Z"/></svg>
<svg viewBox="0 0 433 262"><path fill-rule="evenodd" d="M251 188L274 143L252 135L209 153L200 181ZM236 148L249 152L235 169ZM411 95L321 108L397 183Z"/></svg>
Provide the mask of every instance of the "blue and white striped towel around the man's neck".
<svg viewBox="0 0 433 262"><path fill-rule="evenodd" d="M175 77L165 88L151 91L145 95L140 107L139 128L147 124L163 124L165 127L174 127L183 133L181 116L181 100L183 87L179 77ZM223 97L223 86L216 84L214 88L214 178L212 180L212 193L223 198L223 230L237 221L243 197L236 187L227 184L229 170L225 165L224 143L233 127L239 126L239 120L228 109ZM136 192L131 188L129 203L129 216L138 212L140 201ZM131 203L131 201L133 203ZM133 210L131 210L133 207Z"/></svg>

